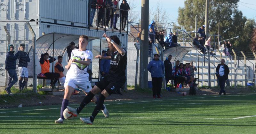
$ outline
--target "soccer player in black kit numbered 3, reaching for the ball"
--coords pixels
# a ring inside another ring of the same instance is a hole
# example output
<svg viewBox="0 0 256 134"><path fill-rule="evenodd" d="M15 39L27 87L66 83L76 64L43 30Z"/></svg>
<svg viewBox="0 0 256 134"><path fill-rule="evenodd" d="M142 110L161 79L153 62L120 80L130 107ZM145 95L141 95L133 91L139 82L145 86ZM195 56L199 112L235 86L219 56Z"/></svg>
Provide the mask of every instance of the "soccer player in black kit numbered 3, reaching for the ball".
<svg viewBox="0 0 256 134"><path fill-rule="evenodd" d="M95 58L110 59L110 69L108 74L102 80L100 80L96 84L96 86L94 86L91 89L88 95L84 97L84 100L81 102L78 108L74 109L74 108L67 107L70 112L78 115L81 112L81 110L85 107L85 105L90 103L93 96L96 93L101 92L99 95L99 100L97 102L97 105L92 112L92 115L88 118L80 118L80 120L82 120L84 123L87 123L87 124L93 123L94 118L99 113L106 97L108 97L110 94L112 94L116 90L119 90L126 81L126 77L125 77L125 69L127 65L126 50L124 48L121 48L120 40L116 35L108 37L106 33L104 33L103 37L107 39L108 48L110 49L110 51L112 51L112 54L111 56L106 56L106 57L98 55L98 56L95 56Z"/></svg>

